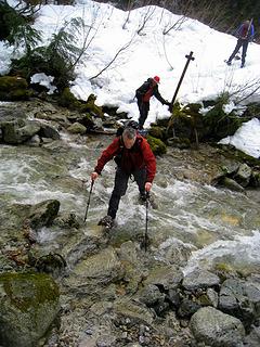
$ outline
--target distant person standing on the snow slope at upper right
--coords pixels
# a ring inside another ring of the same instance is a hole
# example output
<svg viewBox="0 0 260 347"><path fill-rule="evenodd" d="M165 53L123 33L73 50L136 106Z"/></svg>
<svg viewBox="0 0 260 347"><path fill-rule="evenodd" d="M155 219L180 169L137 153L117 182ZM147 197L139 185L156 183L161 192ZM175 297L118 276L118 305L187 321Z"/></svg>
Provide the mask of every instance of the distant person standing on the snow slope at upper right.
<svg viewBox="0 0 260 347"><path fill-rule="evenodd" d="M226 61L227 65L231 65L232 60L235 57L236 53L239 51L242 47L242 64L240 67L245 66L245 61L246 61L246 53L247 53L247 48L248 43L252 41L253 36L255 36L255 28L251 21L246 21L240 24L240 26L236 29L235 36L237 37L237 42L236 47Z"/></svg>

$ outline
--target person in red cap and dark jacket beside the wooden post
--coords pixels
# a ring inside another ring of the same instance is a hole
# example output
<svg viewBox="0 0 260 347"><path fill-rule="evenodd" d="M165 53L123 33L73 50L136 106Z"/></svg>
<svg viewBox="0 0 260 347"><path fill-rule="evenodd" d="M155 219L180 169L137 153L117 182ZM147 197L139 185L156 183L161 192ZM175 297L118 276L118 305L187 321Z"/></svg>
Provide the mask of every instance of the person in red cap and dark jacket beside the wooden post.
<svg viewBox="0 0 260 347"><path fill-rule="evenodd" d="M148 78L140 88L135 91L135 97L138 99L138 106L140 112L139 126L143 129L143 125L148 116L150 111L150 99L154 95L162 105L170 105L169 101L165 100L158 90L158 83L160 78L155 76L154 78Z"/></svg>

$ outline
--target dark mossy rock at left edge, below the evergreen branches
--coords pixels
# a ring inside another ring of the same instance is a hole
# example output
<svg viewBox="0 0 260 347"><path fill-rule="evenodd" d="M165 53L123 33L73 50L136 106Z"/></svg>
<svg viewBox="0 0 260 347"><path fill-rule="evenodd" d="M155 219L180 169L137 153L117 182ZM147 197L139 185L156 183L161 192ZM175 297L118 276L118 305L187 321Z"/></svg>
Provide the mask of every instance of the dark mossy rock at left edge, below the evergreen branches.
<svg viewBox="0 0 260 347"><path fill-rule="evenodd" d="M0 100L21 101L28 100L30 97L26 79L14 76L0 77Z"/></svg>

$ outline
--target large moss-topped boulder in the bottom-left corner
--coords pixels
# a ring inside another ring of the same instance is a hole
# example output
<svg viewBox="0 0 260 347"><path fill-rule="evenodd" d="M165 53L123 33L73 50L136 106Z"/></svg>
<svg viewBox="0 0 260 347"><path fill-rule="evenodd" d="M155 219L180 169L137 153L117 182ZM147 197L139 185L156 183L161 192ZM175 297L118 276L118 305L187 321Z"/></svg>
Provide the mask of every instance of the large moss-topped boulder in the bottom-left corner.
<svg viewBox="0 0 260 347"><path fill-rule="evenodd" d="M60 311L60 291L43 273L0 274L0 344L34 347Z"/></svg>

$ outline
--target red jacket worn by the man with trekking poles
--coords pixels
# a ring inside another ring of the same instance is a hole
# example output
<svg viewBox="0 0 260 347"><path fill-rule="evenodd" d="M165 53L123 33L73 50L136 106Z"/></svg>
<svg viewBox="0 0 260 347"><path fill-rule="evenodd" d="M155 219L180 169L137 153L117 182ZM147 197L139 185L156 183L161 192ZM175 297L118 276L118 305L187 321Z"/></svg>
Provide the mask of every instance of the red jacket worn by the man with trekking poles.
<svg viewBox="0 0 260 347"><path fill-rule="evenodd" d="M120 157L119 166L128 174L133 172L135 169L146 167L146 182L153 182L156 172L156 159L147 140L140 134L136 136L134 145L130 150L125 147L120 137L115 138L98 159L98 165L94 169L95 172L100 175L105 164L114 157Z"/></svg>

